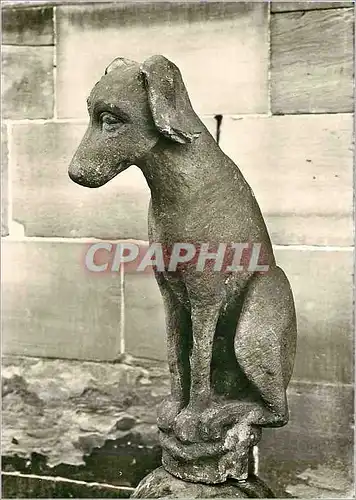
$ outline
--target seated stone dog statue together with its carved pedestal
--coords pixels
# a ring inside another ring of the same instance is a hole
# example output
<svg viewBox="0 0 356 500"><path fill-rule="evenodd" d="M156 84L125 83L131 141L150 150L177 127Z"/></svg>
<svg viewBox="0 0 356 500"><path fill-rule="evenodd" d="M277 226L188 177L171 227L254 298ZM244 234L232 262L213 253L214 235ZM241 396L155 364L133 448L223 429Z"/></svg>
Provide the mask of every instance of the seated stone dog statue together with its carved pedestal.
<svg viewBox="0 0 356 500"><path fill-rule="evenodd" d="M171 396L158 409L163 466L193 482L244 480L261 427L288 421L296 348L292 292L254 194L165 57L115 59L88 110L90 124L69 169L74 182L99 187L137 165L151 190L150 242L166 249L209 243L215 250L258 244L262 252L265 272L198 270L194 262L155 270L171 376Z"/></svg>

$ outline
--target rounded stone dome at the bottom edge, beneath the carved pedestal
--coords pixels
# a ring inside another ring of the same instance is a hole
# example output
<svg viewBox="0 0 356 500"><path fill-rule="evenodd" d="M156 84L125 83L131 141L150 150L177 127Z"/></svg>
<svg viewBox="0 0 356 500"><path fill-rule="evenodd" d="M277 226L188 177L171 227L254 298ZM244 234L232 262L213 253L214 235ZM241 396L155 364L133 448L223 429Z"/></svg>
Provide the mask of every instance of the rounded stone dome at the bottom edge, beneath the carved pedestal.
<svg viewBox="0 0 356 500"><path fill-rule="evenodd" d="M229 479L221 484L182 481L163 467L151 472L137 486L131 498L275 498L256 476L245 481Z"/></svg>

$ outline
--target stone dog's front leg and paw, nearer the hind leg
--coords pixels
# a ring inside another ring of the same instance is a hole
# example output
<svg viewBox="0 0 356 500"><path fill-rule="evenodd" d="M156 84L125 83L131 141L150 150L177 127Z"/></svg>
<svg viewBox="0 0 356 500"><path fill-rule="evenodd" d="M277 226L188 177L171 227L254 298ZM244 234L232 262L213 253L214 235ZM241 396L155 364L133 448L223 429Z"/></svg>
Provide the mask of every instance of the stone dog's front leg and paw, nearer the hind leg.
<svg viewBox="0 0 356 500"><path fill-rule="evenodd" d="M210 370L213 341L221 304L192 305L193 349L190 358L190 398L188 406L177 416L176 437L182 442L199 441L200 416L210 404Z"/></svg>

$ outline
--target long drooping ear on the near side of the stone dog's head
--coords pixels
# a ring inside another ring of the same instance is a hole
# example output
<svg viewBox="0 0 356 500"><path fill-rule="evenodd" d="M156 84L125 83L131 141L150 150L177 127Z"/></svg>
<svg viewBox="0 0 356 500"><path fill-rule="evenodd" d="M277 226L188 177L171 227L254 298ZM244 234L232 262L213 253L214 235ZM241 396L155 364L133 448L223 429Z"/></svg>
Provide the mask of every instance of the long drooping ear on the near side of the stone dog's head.
<svg viewBox="0 0 356 500"><path fill-rule="evenodd" d="M189 124L192 106L177 66L164 56L152 56L140 69L159 132L180 144L193 142L200 132Z"/></svg>

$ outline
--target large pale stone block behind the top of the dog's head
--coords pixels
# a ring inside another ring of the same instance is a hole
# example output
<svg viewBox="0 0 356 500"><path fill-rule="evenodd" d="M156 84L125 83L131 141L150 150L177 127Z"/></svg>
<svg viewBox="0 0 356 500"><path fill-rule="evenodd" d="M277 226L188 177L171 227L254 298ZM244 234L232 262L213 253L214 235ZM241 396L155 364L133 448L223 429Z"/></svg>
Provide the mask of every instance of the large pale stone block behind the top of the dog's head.
<svg viewBox="0 0 356 500"><path fill-rule="evenodd" d="M61 6L57 20L61 117L86 115L87 94L112 59L143 62L162 47L199 114L267 111L263 2Z"/></svg>

